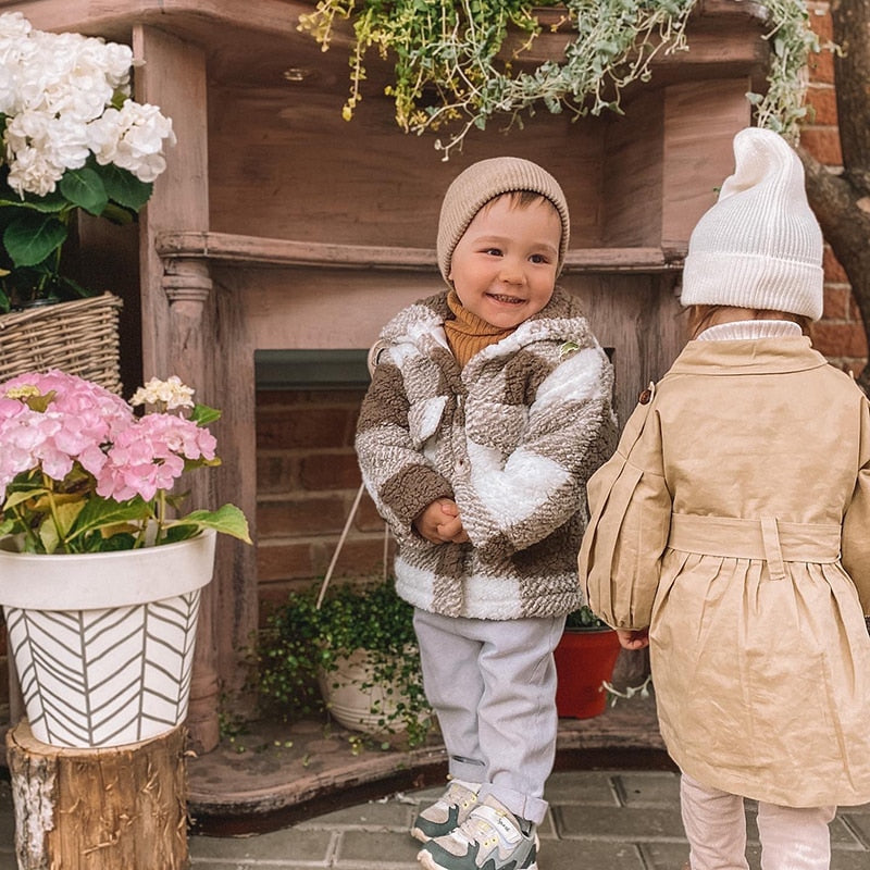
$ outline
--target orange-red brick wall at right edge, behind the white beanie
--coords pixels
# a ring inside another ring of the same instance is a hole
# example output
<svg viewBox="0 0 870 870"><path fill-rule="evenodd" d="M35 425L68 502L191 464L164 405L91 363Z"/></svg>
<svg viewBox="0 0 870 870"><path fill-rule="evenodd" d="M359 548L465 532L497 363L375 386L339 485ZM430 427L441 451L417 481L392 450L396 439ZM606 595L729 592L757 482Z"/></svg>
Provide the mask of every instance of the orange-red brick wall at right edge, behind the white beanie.
<svg viewBox="0 0 870 870"><path fill-rule="evenodd" d="M822 46L832 38L829 4L808 3L812 29ZM810 120L800 134L800 144L829 166L842 164L834 97L834 63L830 51L813 57L807 95L812 108ZM830 247L824 256L824 316L815 324L812 339L828 359L857 376L867 363L867 338L852 288Z"/></svg>

